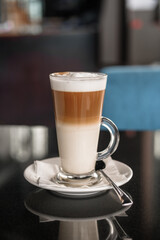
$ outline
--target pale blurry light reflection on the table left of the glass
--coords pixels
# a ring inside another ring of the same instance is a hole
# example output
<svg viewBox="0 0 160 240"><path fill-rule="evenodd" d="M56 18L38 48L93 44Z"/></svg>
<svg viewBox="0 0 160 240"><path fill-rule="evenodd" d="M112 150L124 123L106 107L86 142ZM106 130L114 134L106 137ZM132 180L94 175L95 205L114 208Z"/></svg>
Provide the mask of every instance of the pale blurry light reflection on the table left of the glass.
<svg viewBox="0 0 160 240"><path fill-rule="evenodd" d="M48 154L48 128L44 126L0 127L0 160L12 158L26 162Z"/></svg>

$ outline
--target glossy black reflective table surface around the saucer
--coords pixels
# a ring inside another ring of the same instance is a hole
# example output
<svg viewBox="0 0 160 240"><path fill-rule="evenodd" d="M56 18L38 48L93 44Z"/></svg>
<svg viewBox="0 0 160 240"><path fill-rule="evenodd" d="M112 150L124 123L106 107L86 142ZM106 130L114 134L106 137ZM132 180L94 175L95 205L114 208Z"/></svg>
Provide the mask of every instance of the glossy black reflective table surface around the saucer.
<svg viewBox="0 0 160 240"><path fill-rule="evenodd" d="M99 149L106 145L105 135L101 132ZM70 199L28 183L27 166L58 155L55 129L0 126L0 239L121 239L117 221L131 239L160 239L160 132L120 136L112 158L133 170L122 189L134 203L123 209L112 190Z"/></svg>

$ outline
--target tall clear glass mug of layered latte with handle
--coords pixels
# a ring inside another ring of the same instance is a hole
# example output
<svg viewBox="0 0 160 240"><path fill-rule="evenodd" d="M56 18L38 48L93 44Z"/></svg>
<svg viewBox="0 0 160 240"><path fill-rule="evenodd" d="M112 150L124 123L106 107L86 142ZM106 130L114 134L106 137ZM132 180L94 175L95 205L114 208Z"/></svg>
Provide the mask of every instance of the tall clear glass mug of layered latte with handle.
<svg viewBox="0 0 160 240"><path fill-rule="evenodd" d="M93 185L100 180L97 160L107 158L118 146L115 124L102 117L107 75L89 72L50 74L61 167L54 178L71 186ZM110 143L97 153L100 126L109 130Z"/></svg>

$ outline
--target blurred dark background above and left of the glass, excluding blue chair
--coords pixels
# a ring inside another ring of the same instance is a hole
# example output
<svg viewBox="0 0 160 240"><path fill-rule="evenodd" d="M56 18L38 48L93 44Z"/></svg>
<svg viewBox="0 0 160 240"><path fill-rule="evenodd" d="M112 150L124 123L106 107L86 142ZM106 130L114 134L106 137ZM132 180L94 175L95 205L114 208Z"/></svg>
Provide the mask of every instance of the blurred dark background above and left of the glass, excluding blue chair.
<svg viewBox="0 0 160 240"><path fill-rule="evenodd" d="M159 64L158 0L0 0L0 124L53 125L48 75Z"/></svg>

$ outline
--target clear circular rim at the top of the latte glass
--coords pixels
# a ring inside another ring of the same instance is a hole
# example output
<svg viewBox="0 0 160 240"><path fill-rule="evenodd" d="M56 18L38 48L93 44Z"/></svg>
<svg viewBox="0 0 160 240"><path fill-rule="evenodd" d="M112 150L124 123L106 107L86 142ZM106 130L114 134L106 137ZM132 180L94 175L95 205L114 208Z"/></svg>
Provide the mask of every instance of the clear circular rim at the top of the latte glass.
<svg viewBox="0 0 160 240"><path fill-rule="evenodd" d="M83 76L71 76L71 74L83 74ZM90 76L89 76L90 74ZM54 81L97 81L97 80L104 80L107 78L107 74L102 72L84 72L84 71L68 71L68 72L53 72L49 74L50 80Z"/></svg>

